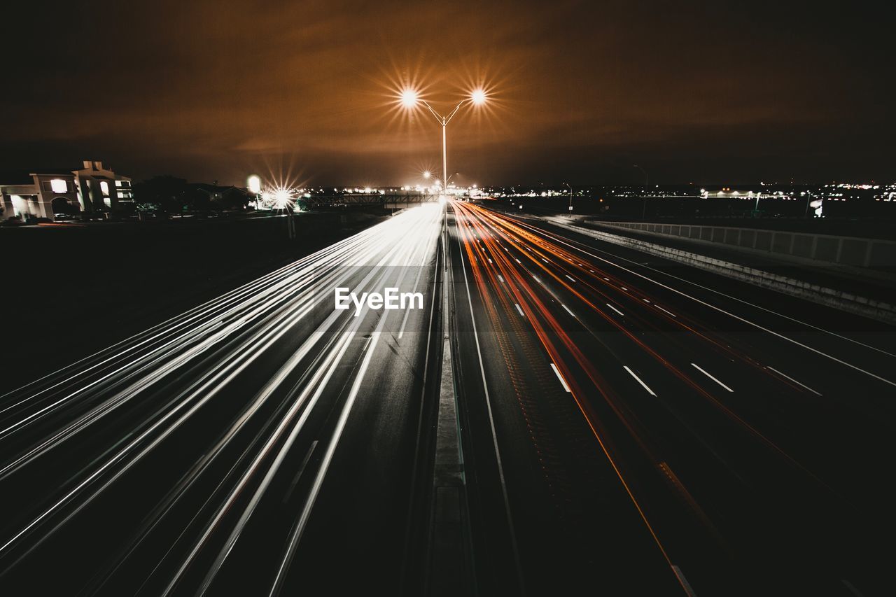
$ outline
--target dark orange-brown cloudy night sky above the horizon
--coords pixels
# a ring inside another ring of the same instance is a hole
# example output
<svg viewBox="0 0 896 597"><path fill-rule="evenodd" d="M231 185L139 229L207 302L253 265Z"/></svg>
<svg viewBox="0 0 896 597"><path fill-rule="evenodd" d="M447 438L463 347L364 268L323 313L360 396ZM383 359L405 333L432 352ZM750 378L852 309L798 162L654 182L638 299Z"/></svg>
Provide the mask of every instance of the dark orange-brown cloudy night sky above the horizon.
<svg viewBox="0 0 896 597"><path fill-rule="evenodd" d="M191 2L4 6L0 169L401 185L896 178L884 4ZM453 102L453 103L452 103Z"/></svg>

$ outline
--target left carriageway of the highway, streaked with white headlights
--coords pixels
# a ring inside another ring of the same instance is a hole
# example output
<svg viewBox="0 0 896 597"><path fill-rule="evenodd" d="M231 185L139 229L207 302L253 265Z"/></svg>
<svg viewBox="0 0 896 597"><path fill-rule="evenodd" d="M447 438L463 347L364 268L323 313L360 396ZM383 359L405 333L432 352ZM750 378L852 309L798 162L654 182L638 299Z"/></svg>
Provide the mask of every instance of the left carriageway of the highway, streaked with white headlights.
<svg viewBox="0 0 896 597"><path fill-rule="evenodd" d="M5 395L0 593L400 587L441 224L403 212ZM426 300L355 316L335 287Z"/></svg>

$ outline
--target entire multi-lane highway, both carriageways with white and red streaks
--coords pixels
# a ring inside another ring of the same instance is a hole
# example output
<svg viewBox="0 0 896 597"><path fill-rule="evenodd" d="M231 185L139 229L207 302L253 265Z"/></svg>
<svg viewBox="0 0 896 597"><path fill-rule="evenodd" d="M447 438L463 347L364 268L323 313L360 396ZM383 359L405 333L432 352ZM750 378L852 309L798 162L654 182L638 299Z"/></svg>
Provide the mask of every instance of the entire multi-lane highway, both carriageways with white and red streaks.
<svg viewBox="0 0 896 597"><path fill-rule="evenodd" d="M469 593L891 593L892 328L452 201L0 397L0 594L454 594L443 330Z"/></svg>

